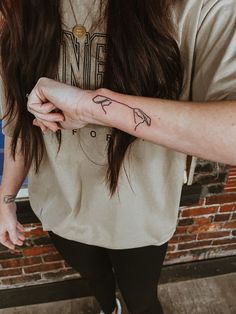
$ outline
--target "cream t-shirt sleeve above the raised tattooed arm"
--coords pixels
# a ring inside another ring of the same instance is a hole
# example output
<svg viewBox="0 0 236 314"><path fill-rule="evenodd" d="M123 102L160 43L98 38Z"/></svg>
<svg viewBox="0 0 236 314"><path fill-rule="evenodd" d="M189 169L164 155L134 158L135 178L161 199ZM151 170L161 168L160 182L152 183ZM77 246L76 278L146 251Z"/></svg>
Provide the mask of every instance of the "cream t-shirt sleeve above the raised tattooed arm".
<svg viewBox="0 0 236 314"><path fill-rule="evenodd" d="M236 1L206 0L196 38L191 99L236 99Z"/></svg>

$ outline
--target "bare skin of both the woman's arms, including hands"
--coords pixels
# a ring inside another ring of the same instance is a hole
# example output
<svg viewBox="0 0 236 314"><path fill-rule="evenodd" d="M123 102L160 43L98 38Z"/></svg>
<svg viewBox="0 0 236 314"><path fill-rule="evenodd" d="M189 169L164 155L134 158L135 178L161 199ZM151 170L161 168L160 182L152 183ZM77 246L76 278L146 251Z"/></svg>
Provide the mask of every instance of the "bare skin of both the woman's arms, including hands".
<svg viewBox="0 0 236 314"><path fill-rule="evenodd" d="M168 101L128 96L107 89L84 91L41 78L29 95L28 110L35 116L34 125L43 132L80 129L88 123L116 127L184 154L236 165L235 100ZM15 249L15 245L23 244L24 228L17 222L14 196L28 167L24 166L20 153L12 160L10 144L11 138L6 137L0 193L0 243ZM13 201L6 204L4 197L7 195L13 196Z"/></svg>

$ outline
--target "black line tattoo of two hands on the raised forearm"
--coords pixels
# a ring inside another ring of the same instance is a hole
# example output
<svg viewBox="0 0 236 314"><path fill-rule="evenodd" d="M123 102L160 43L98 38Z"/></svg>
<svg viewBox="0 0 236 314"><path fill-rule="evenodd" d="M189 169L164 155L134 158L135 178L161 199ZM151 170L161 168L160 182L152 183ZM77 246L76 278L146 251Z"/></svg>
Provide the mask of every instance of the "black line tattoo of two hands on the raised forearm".
<svg viewBox="0 0 236 314"><path fill-rule="evenodd" d="M137 128L141 124L146 124L147 126L151 126L151 122L152 122L151 118L143 110L139 108L130 107L127 104L123 104L122 102L116 101L114 99L111 99L109 97L105 97L102 95L95 96L93 98L93 102L95 104L100 105L105 114L107 114L107 108L111 106L112 104L122 105L131 109L132 114L133 114L134 124L135 124L134 131L136 131Z"/></svg>

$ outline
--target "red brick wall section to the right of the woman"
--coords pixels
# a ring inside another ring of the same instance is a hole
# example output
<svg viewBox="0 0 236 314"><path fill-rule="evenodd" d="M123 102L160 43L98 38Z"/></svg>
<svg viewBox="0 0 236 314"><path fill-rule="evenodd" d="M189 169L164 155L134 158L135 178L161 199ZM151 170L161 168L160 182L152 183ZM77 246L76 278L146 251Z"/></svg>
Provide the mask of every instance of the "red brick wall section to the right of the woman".
<svg viewBox="0 0 236 314"><path fill-rule="evenodd" d="M236 255L236 167L199 161L194 206L181 206L165 264Z"/></svg>

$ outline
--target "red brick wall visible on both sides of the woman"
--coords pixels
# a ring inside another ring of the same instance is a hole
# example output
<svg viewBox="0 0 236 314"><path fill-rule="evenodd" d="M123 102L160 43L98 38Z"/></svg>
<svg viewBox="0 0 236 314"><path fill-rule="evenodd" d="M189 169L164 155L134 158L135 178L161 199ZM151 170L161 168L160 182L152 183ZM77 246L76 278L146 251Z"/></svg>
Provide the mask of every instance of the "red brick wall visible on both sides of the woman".
<svg viewBox="0 0 236 314"><path fill-rule="evenodd" d="M228 170L200 160L194 184L183 190L179 223L165 264L236 255L235 208L236 167ZM79 277L57 253L41 224L27 217L24 247L10 252L0 246L0 289Z"/></svg>

